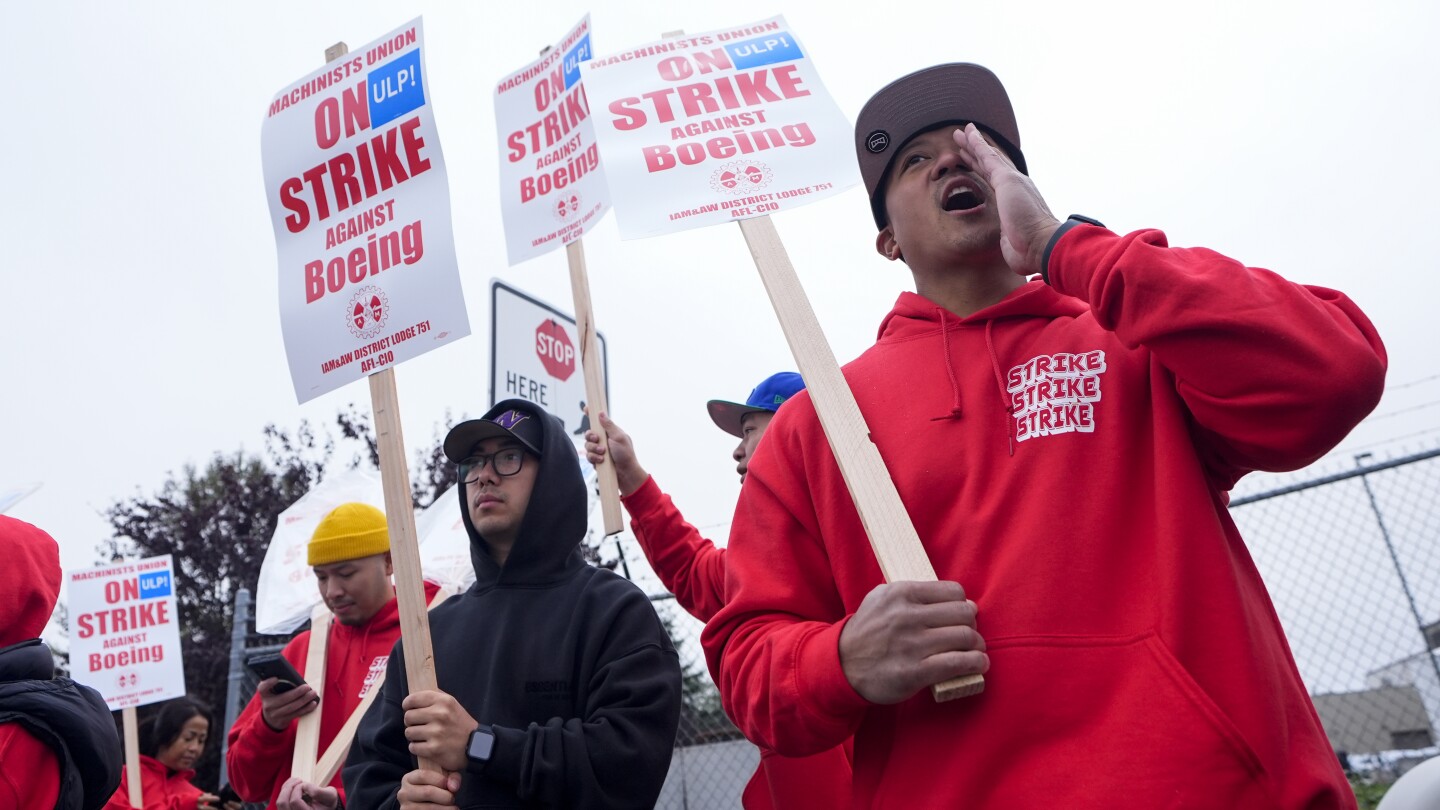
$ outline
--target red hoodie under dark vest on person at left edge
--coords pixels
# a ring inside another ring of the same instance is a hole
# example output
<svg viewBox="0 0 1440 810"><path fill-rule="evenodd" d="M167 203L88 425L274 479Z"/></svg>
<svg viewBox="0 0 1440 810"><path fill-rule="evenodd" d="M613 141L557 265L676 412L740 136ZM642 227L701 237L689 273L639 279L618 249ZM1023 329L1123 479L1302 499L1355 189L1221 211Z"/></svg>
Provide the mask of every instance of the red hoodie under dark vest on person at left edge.
<svg viewBox="0 0 1440 810"><path fill-rule="evenodd" d="M6 577L0 582L0 649L40 636L60 594L60 546L43 530L0 515ZM55 807L60 761L20 724L0 724L0 807Z"/></svg>

